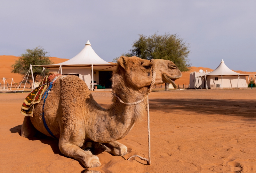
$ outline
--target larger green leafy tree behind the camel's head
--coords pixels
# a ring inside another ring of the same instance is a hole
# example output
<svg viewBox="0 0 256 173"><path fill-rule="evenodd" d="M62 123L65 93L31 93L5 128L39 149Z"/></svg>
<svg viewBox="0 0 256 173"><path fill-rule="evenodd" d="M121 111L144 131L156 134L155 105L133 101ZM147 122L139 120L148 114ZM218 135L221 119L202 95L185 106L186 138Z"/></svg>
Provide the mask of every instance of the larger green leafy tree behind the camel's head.
<svg viewBox="0 0 256 173"><path fill-rule="evenodd" d="M151 36L139 34L139 39L135 40L132 49L122 56L137 56L142 59L166 59L178 66L180 71L189 71L189 44L187 44L177 34L157 33ZM116 57L113 62L117 62Z"/></svg>

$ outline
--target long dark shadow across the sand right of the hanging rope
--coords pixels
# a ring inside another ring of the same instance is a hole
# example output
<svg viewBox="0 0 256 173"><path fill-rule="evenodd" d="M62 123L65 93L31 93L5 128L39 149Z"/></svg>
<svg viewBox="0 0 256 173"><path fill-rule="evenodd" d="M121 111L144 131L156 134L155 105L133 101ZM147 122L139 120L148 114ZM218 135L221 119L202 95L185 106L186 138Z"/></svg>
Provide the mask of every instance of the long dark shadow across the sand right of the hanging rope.
<svg viewBox="0 0 256 173"><path fill-rule="evenodd" d="M256 117L256 100L223 99L149 99L150 110L183 110L206 115Z"/></svg>

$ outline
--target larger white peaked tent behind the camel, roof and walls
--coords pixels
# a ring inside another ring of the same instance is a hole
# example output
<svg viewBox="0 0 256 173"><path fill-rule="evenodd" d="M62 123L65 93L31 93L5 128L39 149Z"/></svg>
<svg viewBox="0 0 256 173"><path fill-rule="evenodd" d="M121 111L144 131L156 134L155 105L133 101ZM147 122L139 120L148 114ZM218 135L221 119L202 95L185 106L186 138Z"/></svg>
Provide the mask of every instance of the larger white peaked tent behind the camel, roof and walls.
<svg viewBox="0 0 256 173"><path fill-rule="evenodd" d="M68 61L59 64L37 66L48 68L50 71L59 71L61 74L77 75L80 79L84 80L88 88L93 90L94 82L91 81L99 82L99 71L113 71L115 70L116 65L117 64L110 64L101 59L100 56L94 52L91 43L88 40L84 49Z"/></svg>

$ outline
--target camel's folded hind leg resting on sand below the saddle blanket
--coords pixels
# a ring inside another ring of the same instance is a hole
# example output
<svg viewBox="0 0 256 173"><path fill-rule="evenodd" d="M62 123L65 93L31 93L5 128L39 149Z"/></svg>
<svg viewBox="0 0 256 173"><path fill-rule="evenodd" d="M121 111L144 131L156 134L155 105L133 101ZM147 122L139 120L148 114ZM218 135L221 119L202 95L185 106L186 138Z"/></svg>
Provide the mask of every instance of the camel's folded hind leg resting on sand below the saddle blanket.
<svg viewBox="0 0 256 173"><path fill-rule="evenodd" d="M35 136L37 130L30 121L30 117L24 117L22 126L21 126L21 136L25 138L31 138Z"/></svg>

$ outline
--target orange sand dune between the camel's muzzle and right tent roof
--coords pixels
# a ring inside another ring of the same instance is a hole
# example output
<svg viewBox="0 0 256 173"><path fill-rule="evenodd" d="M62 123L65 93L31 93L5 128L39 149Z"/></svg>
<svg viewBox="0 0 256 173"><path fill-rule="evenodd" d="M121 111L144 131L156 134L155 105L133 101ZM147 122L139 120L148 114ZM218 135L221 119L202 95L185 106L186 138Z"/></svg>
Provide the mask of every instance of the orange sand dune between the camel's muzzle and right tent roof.
<svg viewBox="0 0 256 173"><path fill-rule="evenodd" d="M189 71L185 71L185 72L181 72L182 76L180 79L175 80L175 84L177 85L188 85L189 84L189 75L191 72L194 71L199 71L200 69L202 69L203 71L213 71L210 68L205 68L205 67L191 67Z"/></svg>

